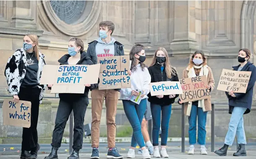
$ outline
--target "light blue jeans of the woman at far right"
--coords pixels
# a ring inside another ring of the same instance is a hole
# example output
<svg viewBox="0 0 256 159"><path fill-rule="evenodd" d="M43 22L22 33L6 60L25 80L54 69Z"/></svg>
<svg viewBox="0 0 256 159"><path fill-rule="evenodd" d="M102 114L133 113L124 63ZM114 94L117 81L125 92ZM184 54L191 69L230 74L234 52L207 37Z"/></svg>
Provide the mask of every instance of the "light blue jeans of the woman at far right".
<svg viewBox="0 0 256 159"><path fill-rule="evenodd" d="M225 137L225 144L232 146L235 139L235 134L238 139L238 144L246 144L246 134L243 127L243 114L247 108L235 106L230 122L228 124L228 131Z"/></svg>

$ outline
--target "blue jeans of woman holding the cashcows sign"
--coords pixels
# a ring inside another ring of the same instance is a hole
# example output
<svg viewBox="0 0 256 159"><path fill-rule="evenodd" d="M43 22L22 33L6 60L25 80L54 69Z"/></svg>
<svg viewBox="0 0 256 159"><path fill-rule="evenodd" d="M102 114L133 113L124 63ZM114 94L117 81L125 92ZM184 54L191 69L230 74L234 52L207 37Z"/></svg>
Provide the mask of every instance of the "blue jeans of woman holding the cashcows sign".
<svg viewBox="0 0 256 159"><path fill-rule="evenodd" d="M203 111L202 108L198 108L198 106L192 105L191 114L188 117L188 138L189 144L196 144L196 119L198 116L198 134L197 134L197 143L200 145L205 145L205 137L206 137L206 118L207 111Z"/></svg>

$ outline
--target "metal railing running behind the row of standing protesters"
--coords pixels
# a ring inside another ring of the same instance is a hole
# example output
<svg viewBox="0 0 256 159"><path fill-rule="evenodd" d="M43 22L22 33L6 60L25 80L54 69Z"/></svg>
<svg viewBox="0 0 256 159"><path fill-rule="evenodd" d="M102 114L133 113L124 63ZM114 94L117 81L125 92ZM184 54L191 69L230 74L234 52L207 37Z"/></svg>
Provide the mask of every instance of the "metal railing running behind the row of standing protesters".
<svg viewBox="0 0 256 159"><path fill-rule="evenodd" d="M0 95L0 97L12 97L9 95ZM59 98L58 96L55 97L44 97L44 98ZM91 98L89 98L91 99ZM120 101L120 99L118 99ZM216 103L215 103L216 104ZM222 103L223 104L223 103ZM177 110L177 109L176 109ZM181 106L181 152L185 152L185 114L184 114L184 104ZM211 151L214 151L214 144L215 144L215 139L214 139L214 103L212 103L212 111L211 111ZM149 130L149 138L152 141L152 119L148 121L148 130ZM69 154L72 153L73 151L73 111L69 115ZM237 148L238 148L238 143L237 143Z"/></svg>

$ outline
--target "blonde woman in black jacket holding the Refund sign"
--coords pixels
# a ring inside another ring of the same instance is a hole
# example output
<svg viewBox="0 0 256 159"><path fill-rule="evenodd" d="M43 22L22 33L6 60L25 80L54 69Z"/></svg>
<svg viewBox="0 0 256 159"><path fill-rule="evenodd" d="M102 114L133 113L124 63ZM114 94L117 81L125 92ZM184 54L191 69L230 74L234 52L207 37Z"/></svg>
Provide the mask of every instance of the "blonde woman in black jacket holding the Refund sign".
<svg viewBox="0 0 256 159"><path fill-rule="evenodd" d="M169 56L165 48L158 48L154 54L153 61L149 66L151 83L162 81L179 81L177 71L170 65ZM153 157L160 156L168 158L166 151L169 121L172 112L172 103L175 102L178 94L152 96L149 93L149 102L153 119L152 141L154 146ZM162 121L161 119L162 112ZM158 148L159 129L162 129L161 134L161 151Z"/></svg>

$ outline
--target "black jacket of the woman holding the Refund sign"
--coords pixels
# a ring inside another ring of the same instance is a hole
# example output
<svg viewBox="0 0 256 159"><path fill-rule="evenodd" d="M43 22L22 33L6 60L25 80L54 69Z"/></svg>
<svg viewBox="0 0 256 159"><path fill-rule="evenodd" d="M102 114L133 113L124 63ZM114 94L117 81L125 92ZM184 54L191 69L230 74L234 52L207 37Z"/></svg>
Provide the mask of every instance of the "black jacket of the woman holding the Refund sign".
<svg viewBox="0 0 256 159"><path fill-rule="evenodd" d="M175 76L172 76L172 78L168 78L167 80L167 74L165 72L165 65L163 72L161 71L161 65L156 63L154 66L150 66L149 68L149 74L151 76L151 82L162 82L162 81L179 81L177 72L175 70ZM176 94L174 98L169 98L169 95L164 96L163 98L157 98L157 96L151 96L151 93L148 94L148 101L150 103L159 104L161 106L167 106L175 102L175 98L177 98L179 95Z"/></svg>

